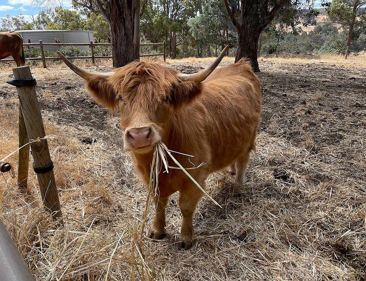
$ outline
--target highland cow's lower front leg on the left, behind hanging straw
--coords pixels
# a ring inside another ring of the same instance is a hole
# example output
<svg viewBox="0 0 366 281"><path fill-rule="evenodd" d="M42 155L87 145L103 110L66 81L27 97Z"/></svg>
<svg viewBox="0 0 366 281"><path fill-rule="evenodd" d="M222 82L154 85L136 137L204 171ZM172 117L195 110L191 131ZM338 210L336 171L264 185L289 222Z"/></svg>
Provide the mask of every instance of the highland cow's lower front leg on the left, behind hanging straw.
<svg viewBox="0 0 366 281"><path fill-rule="evenodd" d="M165 237L165 208L169 197L154 197L155 216L152 226L149 229L147 237L159 240Z"/></svg>

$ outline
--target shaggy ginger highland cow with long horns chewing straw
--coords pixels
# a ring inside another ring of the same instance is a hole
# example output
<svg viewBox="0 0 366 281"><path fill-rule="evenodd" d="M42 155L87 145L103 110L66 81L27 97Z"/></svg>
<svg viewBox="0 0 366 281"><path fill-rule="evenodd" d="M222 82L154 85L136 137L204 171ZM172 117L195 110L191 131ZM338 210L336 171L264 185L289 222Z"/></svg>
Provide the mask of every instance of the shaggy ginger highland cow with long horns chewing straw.
<svg viewBox="0 0 366 281"><path fill-rule="evenodd" d="M236 182L245 182L249 154L261 115L261 89L249 63L216 69L227 48L206 69L182 74L158 63L132 62L109 73L85 71L61 53L59 56L86 80L93 97L101 104L120 110L124 130L124 149L131 153L134 167L148 184L153 146L162 141L183 167L206 165L189 170L204 188L209 174L228 166L236 171ZM210 75L211 74L211 75ZM173 162L170 166L175 166ZM179 246L192 246L192 216L203 193L180 170L159 174L158 196L154 198L155 216L148 236L165 235L165 207L169 196L179 191L183 216Z"/></svg>

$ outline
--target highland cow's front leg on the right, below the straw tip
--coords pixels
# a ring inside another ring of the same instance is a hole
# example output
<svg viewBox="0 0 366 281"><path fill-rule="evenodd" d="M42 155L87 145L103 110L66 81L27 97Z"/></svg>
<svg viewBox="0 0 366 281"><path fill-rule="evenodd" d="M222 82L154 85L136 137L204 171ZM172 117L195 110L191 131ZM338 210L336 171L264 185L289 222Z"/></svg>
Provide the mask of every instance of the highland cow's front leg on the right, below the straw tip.
<svg viewBox="0 0 366 281"><path fill-rule="evenodd" d="M204 184L201 186L205 188ZM183 219L179 235L178 247L182 249L188 250L192 247L192 239L194 235L192 217L201 197L202 192L195 185L192 185L184 191L180 192L179 209L183 216Z"/></svg>

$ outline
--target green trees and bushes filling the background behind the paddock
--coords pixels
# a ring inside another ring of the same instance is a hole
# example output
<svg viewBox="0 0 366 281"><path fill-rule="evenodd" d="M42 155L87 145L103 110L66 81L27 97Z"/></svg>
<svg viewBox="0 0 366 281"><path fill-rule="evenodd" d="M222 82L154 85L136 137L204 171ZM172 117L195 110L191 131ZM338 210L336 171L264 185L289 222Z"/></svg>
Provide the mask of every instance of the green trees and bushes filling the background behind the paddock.
<svg viewBox="0 0 366 281"><path fill-rule="evenodd" d="M325 13L324 9L303 9L300 4L305 2L301 1L292 1L291 5L285 5L262 32L261 54L272 54L276 51L280 54L344 52L347 24L352 13L353 1L333 0L331 6L326 9L333 22L343 25L342 32L331 22L316 22L315 16L318 13ZM237 5L241 2L228 1L235 17L240 13ZM230 55L235 55L238 34L228 17L223 0L148 0L146 3L147 5L144 5L145 2L141 2L141 5L143 4L140 19L141 44L166 41L166 54L178 58L200 57L205 53L209 54L209 51L212 55L216 55L215 52L220 52L226 44L229 44ZM269 6L278 3L279 0L260 3L258 11L265 12ZM98 12L80 7L75 11L58 7L41 11L33 22L25 22L23 16L7 16L1 19L0 24L3 30L92 30L95 38L99 38L101 42L108 42L108 23L96 13ZM351 43L354 51L366 48L364 26L366 19L362 13L364 9L359 8ZM299 23L305 26L313 25L315 28L309 33L304 33L301 32ZM207 49L208 46L210 49ZM64 47L62 51L67 56L90 55L90 51L81 51L76 47ZM25 52L27 57L40 56L39 49L25 48ZM45 50L45 52L48 51ZM111 48L95 46L94 53L96 56L110 56ZM141 46L140 53L162 53L162 46ZM49 54L49 56L54 55Z"/></svg>

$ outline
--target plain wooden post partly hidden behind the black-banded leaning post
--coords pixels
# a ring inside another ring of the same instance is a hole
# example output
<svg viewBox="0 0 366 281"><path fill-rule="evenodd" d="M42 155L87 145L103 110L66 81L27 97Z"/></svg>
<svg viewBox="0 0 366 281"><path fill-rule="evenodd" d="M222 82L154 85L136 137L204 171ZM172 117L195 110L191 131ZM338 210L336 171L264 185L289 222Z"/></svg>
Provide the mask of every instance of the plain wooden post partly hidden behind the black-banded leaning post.
<svg viewBox="0 0 366 281"><path fill-rule="evenodd" d="M29 142L26 125L24 123L22 107L19 104L19 147L23 147ZM19 150L18 162L18 186L26 188L28 185L29 170L29 145Z"/></svg>

